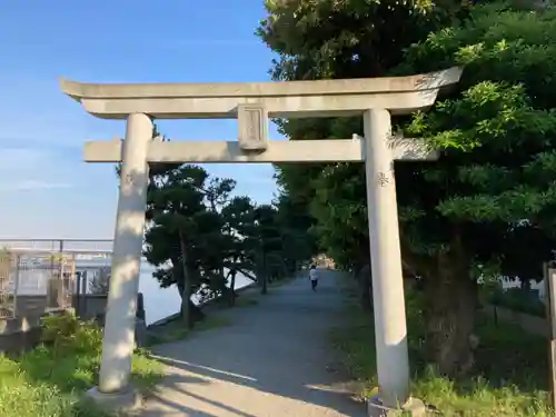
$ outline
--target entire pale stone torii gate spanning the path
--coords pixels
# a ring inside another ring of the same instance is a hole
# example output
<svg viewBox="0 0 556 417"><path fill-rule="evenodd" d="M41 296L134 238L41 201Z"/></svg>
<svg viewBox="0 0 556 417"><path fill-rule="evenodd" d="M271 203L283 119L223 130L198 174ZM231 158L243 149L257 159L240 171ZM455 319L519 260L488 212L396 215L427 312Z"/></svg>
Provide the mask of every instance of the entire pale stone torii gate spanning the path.
<svg viewBox="0 0 556 417"><path fill-rule="evenodd" d="M122 161L100 401L133 403L129 387L149 162L365 162L378 381L388 407L409 399L406 311L394 160L435 159L423 142L394 138L390 115L429 108L461 70L395 78L254 83L80 83L62 91L91 115L126 119L125 140L90 141L88 162ZM268 141L268 118L363 116L364 138ZM152 139L152 119L238 119L238 141Z"/></svg>

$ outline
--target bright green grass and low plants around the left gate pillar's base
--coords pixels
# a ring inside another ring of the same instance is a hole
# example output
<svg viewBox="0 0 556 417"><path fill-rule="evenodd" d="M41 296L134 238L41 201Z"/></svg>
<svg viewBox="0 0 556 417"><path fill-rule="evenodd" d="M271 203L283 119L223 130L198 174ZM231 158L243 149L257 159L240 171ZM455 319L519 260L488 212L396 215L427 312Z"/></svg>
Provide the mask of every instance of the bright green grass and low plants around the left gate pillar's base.
<svg viewBox="0 0 556 417"><path fill-rule="evenodd" d="M58 328L57 339L49 340L49 346L16 358L0 356L0 416L109 416L81 403L82 394L98 381L101 330L79 324L75 317L64 320L77 329L73 335ZM149 390L161 377L162 366L148 351L133 355L132 381L139 389Z"/></svg>

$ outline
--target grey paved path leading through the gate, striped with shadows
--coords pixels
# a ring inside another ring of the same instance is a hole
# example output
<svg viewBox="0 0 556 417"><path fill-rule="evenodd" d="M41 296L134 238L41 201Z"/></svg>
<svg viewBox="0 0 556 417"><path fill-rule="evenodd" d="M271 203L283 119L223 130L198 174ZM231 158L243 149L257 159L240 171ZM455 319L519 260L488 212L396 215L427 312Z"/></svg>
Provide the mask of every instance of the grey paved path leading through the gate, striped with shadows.
<svg viewBox="0 0 556 417"><path fill-rule="evenodd" d="M317 294L305 279L270 288L256 306L222 311L231 326L155 349L168 376L141 417L365 417L341 393L328 340L337 278L324 271Z"/></svg>

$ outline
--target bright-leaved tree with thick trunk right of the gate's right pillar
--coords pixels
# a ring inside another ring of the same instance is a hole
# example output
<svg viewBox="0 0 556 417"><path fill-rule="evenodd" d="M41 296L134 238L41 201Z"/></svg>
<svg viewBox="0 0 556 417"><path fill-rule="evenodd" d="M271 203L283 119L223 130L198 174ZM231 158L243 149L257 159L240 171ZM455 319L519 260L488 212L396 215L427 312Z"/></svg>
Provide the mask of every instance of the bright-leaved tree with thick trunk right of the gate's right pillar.
<svg viewBox="0 0 556 417"><path fill-rule="evenodd" d="M448 374L473 363L473 266L540 278L555 247L555 16L476 7L465 24L411 47L399 68L465 66L458 91L404 125L440 159L396 172L404 257L424 277L429 354Z"/></svg>

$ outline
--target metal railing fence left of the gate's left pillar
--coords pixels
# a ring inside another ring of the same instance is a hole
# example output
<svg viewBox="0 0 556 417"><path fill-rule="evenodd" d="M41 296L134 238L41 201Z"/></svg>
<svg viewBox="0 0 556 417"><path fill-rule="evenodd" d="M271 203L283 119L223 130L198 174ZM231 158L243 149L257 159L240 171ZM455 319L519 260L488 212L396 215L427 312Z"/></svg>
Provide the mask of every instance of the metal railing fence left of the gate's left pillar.
<svg viewBox="0 0 556 417"><path fill-rule="evenodd" d="M109 239L0 239L0 318L73 307L73 296L102 292Z"/></svg>

